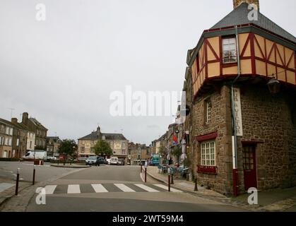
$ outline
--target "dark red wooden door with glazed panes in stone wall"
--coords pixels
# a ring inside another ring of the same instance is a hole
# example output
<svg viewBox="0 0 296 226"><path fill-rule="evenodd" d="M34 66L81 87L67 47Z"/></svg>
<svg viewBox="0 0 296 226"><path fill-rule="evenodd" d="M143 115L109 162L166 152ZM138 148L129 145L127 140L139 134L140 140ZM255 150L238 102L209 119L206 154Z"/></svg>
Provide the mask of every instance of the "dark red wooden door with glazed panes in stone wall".
<svg viewBox="0 0 296 226"><path fill-rule="evenodd" d="M244 189L257 188L256 175L256 145L244 145L242 147L244 167Z"/></svg>

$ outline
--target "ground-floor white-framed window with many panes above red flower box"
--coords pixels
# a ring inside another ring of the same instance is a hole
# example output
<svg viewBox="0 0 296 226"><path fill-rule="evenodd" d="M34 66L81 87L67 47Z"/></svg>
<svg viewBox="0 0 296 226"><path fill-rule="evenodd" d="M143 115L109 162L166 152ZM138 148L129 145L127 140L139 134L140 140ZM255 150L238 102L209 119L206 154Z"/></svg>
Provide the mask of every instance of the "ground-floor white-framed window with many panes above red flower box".
<svg viewBox="0 0 296 226"><path fill-rule="evenodd" d="M215 141L201 143L201 165L215 166Z"/></svg>

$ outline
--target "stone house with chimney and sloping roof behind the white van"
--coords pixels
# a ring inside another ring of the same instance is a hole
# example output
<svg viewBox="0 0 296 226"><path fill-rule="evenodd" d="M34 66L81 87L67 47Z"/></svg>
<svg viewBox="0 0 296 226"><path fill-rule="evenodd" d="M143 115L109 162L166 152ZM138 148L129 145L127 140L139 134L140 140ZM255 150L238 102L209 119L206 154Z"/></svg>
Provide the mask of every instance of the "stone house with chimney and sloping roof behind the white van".
<svg viewBox="0 0 296 226"><path fill-rule="evenodd" d="M35 149L46 150L47 129L37 119L30 117L27 112L23 113L22 125L26 126L29 131L35 133Z"/></svg>

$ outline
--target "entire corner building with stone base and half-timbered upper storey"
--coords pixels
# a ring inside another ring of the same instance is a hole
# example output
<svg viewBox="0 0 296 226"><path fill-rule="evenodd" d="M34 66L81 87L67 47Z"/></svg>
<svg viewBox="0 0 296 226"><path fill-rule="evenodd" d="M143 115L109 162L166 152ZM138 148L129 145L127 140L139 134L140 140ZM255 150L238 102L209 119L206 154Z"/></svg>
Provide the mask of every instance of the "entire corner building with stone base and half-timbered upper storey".
<svg viewBox="0 0 296 226"><path fill-rule="evenodd" d="M259 6L259 1L247 1ZM296 39L246 1L187 55L189 155L225 195L296 186Z"/></svg>

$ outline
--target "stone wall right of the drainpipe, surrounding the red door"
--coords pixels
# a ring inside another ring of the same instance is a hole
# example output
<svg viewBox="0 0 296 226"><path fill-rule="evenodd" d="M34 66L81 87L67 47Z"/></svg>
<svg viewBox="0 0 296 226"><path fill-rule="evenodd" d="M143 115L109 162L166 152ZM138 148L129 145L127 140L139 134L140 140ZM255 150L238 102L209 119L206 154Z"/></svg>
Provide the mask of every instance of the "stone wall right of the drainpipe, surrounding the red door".
<svg viewBox="0 0 296 226"><path fill-rule="evenodd" d="M256 146L258 189L296 186L296 105L285 90L271 95L265 87L247 88L241 94L243 137L261 141ZM239 179L243 184L242 144L238 142ZM241 188L242 189L242 188Z"/></svg>

